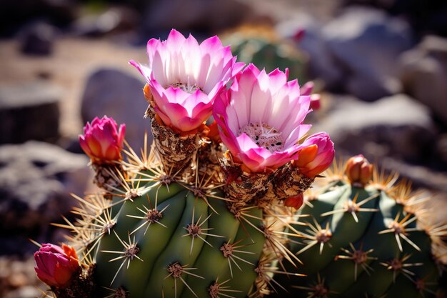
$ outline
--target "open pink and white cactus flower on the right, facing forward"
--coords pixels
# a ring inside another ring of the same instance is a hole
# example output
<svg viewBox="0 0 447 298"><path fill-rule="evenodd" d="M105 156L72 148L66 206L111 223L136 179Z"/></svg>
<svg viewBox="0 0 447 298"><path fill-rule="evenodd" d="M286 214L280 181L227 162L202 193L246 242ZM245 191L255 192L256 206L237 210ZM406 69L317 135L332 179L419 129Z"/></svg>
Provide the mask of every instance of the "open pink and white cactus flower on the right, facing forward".
<svg viewBox="0 0 447 298"><path fill-rule="evenodd" d="M301 96L298 81L287 79L287 70L266 74L250 64L214 104L222 141L250 172L271 172L291 161L311 127L303 124L310 96Z"/></svg>

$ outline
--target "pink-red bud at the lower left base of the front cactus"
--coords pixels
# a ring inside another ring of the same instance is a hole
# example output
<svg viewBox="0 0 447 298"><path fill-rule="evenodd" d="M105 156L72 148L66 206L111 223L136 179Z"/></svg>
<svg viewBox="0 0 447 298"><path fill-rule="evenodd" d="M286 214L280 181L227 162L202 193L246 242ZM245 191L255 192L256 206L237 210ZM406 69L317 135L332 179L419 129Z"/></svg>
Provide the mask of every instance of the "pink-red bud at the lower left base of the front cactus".
<svg viewBox="0 0 447 298"><path fill-rule="evenodd" d="M71 283L73 274L79 269L78 256L73 247L62 244L42 244L34 254L37 277L51 287L64 289Z"/></svg>

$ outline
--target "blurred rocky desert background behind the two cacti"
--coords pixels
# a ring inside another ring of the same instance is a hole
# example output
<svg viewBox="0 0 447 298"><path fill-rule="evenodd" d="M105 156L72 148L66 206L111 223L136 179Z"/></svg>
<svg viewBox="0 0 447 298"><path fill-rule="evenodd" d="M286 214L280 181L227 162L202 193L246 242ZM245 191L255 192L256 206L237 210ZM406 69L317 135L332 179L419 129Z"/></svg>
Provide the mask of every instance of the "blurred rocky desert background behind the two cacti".
<svg viewBox="0 0 447 298"><path fill-rule="evenodd" d="M0 297L45 289L29 239L63 241L50 223L91 191L84 123L113 116L141 146L144 81L127 62L172 28L313 81L313 132L399 172L446 220L445 0L0 0Z"/></svg>

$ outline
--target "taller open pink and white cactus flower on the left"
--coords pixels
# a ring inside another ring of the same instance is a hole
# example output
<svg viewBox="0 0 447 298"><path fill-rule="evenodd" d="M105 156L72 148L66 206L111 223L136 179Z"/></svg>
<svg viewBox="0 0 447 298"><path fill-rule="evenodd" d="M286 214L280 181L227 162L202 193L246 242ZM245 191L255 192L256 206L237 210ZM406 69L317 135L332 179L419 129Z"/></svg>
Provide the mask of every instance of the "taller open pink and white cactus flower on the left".
<svg viewBox="0 0 447 298"><path fill-rule="evenodd" d="M199 44L172 29L166 41L147 43L149 65L131 60L149 85L156 113L177 131L197 129L211 116L214 100L244 64L214 36Z"/></svg>

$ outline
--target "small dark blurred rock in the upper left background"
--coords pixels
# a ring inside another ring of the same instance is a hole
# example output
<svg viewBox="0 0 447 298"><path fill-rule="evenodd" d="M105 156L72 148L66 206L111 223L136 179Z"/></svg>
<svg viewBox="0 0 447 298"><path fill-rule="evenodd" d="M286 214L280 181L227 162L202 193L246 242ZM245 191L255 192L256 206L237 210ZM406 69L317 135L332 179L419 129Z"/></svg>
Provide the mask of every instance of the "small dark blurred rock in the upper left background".
<svg viewBox="0 0 447 298"><path fill-rule="evenodd" d="M56 29L44 22L26 24L17 34L24 54L47 56L53 52Z"/></svg>

